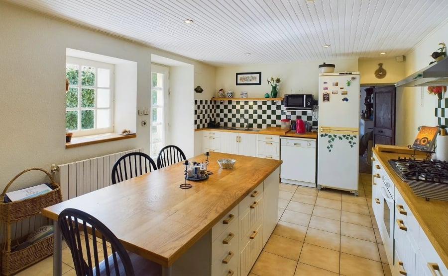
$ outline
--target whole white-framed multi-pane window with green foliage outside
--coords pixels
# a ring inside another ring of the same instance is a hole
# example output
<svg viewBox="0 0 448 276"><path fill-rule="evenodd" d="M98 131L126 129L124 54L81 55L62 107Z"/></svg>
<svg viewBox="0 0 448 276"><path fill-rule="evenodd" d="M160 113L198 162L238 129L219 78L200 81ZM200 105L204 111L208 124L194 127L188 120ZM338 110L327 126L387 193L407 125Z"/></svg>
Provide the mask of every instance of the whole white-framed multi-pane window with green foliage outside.
<svg viewBox="0 0 448 276"><path fill-rule="evenodd" d="M113 132L114 65L67 57L65 124L74 136Z"/></svg>

